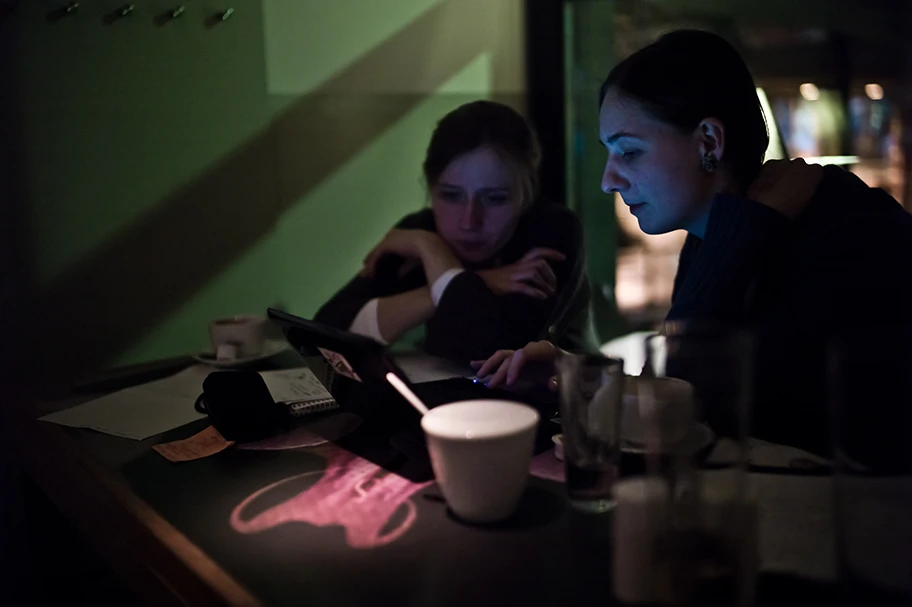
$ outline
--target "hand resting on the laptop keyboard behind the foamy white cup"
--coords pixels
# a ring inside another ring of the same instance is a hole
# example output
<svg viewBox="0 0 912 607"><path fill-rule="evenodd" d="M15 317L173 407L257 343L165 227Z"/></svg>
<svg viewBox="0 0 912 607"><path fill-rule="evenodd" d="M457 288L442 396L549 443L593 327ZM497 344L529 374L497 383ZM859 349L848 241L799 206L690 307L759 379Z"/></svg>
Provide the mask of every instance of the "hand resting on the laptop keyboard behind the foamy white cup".
<svg viewBox="0 0 912 607"><path fill-rule="evenodd" d="M485 385L496 388L501 384L513 386L522 376L536 385L557 390L555 362L562 350L550 341L535 341L521 350L498 350L487 360L469 363L475 375L487 378Z"/></svg>

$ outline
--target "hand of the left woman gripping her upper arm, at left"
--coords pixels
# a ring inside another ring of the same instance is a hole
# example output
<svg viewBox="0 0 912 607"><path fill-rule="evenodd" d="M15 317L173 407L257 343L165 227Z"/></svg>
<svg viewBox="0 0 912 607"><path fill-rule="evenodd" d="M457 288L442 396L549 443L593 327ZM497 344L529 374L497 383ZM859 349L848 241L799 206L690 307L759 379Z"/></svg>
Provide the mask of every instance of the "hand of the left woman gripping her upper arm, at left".
<svg viewBox="0 0 912 607"><path fill-rule="evenodd" d="M433 284L446 270L461 267L450 248L434 232L394 228L367 254L364 258L364 267L358 275L373 278L377 272L377 264L386 255L399 255L405 258L405 263L399 271L400 277L418 264L422 264L428 284Z"/></svg>

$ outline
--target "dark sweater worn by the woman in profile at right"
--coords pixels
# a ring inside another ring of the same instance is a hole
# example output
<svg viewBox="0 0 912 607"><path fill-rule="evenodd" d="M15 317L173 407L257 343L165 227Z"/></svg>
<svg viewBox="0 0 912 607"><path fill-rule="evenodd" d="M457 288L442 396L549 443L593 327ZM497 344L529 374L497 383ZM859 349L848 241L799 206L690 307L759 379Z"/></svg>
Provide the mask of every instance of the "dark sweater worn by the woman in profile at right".
<svg viewBox="0 0 912 607"><path fill-rule="evenodd" d="M704 237L681 251L668 320L750 332L753 436L829 455L842 402L841 440L857 459L909 457L912 215L884 191L830 166L794 220L717 196ZM877 344L876 356L828 375L846 339L853 354Z"/></svg>

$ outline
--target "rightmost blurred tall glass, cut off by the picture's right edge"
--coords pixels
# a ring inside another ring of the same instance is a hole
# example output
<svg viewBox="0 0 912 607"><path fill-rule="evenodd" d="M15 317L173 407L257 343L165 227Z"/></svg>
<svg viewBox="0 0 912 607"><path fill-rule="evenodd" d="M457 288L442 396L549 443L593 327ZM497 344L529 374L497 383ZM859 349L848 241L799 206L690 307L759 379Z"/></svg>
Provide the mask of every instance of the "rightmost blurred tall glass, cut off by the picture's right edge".
<svg viewBox="0 0 912 607"><path fill-rule="evenodd" d="M912 336L847 332L830 347L834 512L846 604L912 605Z"/></svg>

